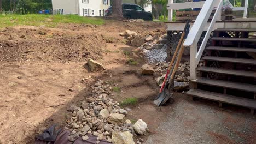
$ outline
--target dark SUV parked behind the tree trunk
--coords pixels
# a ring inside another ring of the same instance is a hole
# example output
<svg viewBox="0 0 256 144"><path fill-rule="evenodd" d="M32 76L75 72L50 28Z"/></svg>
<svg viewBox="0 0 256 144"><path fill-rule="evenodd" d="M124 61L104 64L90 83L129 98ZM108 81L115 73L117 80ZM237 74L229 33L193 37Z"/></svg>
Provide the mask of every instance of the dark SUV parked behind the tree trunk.
<svg viewBox="0 0 256 144"><path fill-rule="evenodd" d="M143 19L146 21L152 21L152 14L146 12L143 8L136 4L122 4L123 16L127 19ZM112 6L106 10L106 15L112 14Z"/></svg>

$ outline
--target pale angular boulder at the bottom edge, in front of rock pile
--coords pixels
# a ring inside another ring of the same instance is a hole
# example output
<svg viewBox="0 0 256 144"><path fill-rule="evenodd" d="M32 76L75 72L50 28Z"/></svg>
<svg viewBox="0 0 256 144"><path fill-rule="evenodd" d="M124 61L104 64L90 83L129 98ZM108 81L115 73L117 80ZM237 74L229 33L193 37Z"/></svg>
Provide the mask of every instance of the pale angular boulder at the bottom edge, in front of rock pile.
<svg viewBox="0 0 256 144"><path fill-rule="evenodd" d="M133 141L133 135L129 131L124 132L112 132L112 143L113 144L135 144Z"/></svg>

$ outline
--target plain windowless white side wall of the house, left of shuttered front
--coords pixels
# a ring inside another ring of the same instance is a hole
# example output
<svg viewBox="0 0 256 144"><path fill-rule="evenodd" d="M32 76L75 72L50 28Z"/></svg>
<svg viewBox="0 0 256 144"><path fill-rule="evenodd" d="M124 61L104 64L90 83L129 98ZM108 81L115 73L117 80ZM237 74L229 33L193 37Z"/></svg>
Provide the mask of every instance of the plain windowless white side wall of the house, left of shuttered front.
<svg viewBox="0 0 256 144"><path fill-rule="evenodd" d="M78 0L52 0L52 3L53 11L63 9L63 14L78 14Z"/></svg>

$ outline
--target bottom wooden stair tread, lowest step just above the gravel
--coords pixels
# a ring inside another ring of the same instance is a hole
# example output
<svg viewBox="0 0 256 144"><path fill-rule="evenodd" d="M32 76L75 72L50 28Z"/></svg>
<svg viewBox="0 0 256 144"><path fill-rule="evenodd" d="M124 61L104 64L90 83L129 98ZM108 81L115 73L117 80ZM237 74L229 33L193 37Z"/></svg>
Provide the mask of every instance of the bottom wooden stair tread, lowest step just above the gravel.
<svg viewBox="0 0 256 144"><path fill-rule="evenodd" d="M187 92L187 94L195 97L209 99L209 100L216 100L222 103L228 103L228 104L248 107L250 109L256 109L256 100L253 100L253 99L246 99L246 98L235 97L232 95L208 92L200 89L190 89Z"/></svg>

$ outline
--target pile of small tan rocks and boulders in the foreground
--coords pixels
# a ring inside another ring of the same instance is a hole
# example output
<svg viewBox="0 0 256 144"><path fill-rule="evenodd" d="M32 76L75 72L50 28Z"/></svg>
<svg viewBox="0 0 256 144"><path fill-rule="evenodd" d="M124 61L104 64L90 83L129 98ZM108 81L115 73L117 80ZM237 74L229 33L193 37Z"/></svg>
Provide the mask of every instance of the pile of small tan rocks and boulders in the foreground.
<svg viewBox="0 0 256 144"><path fill-rule="evenodd" d="M86 141L88 139L86 135L90 134L97 136L97 143L100 140L113 143L123 141L125 143L127 140L133 142L133 135L146 133L147 124L141 119L134 125L129 119L125 121L127 111L121 109L117 101L109 98L112 87L107 81L99 80L92 86L92 89L92 96L83 101L80 107L72 106L69 108L69 111L73 112L73 116L67 121L66 127L71 131L68 136L69 141L74 141L79 136L82 136L82 139Z"/></svg>

